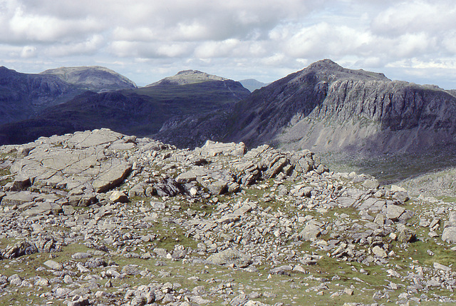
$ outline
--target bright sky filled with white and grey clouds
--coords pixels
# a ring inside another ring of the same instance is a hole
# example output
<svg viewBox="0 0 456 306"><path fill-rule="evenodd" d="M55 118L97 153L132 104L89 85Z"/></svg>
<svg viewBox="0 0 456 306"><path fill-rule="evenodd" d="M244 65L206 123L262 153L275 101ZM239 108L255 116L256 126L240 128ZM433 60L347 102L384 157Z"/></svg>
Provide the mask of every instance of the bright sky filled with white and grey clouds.
<svg viewBox="0 0 456 306"><path fill-rule="evenodd" d="M0 0L0 66L196 69L269 83L315 61L456 88L454 0Z"/></svg>

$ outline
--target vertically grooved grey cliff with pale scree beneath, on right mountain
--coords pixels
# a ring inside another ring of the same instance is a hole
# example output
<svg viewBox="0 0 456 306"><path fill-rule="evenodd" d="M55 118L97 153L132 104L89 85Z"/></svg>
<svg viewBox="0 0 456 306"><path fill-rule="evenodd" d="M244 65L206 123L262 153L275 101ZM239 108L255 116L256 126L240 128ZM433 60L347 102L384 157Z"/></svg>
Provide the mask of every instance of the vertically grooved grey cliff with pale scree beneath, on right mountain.
<svg viewBox="0 0 456 306"><path fill-rule="evenodd" d="M417 153L455 143L456 99L436 88L398 81L336 81L306 118L274 141L289 148Z"/></svg>

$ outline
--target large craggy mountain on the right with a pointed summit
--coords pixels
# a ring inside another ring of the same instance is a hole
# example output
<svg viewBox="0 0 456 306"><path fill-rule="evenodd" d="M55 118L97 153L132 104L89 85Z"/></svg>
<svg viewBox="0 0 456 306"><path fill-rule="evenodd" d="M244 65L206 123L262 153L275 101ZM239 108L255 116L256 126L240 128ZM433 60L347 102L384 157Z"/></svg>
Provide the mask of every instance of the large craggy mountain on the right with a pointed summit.
<svg viewBox="0 0 456 306"><path fill-rule="evenodd" d="M236 104L224 140L290 149L416 153L455 143L456 98L330 60Z"/></svg>

